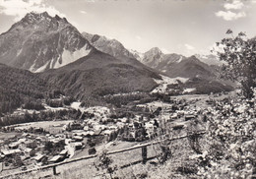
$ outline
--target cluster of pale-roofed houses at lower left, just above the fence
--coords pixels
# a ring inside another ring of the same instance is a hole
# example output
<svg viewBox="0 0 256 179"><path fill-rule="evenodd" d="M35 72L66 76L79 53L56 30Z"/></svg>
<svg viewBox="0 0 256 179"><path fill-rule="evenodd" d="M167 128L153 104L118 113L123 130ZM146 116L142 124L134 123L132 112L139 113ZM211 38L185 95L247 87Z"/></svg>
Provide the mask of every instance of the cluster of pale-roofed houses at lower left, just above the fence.
<svg viewBox="0 0 256 179"><path fill-rule="evenodd" d="M67 158L68 150L64 147L64 135L24 133L0 144L0 160L4 170L21 166L38 167L57 161L55 155L61 155L62 160Z"/></svg>

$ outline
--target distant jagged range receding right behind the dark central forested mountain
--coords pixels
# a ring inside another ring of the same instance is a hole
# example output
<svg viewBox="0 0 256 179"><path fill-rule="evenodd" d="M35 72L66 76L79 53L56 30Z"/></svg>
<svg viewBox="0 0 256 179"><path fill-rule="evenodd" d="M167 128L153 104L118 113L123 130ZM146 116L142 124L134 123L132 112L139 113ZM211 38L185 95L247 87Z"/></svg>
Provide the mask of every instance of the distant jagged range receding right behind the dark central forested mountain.
<svg viewBox="0 0 256 179"><path fill-rule="evenodd" d="M163 54L158 47L154 47L145 53L140 53L126 49L116 39L108 39L105 36L87 32L83 32L83 35L100 51L118 59L136 58L148 67L158 70L168 77L213 78L216 75L216 69L222 64L214 55L185 57L176 53Z"/></svg>

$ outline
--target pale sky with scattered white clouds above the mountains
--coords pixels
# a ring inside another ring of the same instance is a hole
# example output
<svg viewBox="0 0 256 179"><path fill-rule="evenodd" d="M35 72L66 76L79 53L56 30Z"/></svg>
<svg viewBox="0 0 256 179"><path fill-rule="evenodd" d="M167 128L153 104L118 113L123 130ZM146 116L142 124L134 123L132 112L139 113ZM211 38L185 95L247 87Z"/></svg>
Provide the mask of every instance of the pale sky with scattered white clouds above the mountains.
<svg viewBox="0 0 256 179"><path fill-rule="evenodd" d="M256 36L256 0L0 0L0 33L32 11L139 52L208 54L228 29Z"/></svg>

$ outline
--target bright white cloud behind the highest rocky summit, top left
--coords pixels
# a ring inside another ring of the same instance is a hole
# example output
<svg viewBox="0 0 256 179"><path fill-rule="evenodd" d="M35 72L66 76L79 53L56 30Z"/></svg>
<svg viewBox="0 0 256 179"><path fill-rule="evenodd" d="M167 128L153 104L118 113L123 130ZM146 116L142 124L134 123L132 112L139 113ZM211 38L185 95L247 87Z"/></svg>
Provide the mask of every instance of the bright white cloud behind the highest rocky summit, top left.
<svg viewBox="0 0 256 179"><path fill-rule="evenodd" d="M0 14L14 16L14 21L21 20L27 13L47 12L50 16L65 17L53 6L47 5L44 0L0 0Z"/></svg>

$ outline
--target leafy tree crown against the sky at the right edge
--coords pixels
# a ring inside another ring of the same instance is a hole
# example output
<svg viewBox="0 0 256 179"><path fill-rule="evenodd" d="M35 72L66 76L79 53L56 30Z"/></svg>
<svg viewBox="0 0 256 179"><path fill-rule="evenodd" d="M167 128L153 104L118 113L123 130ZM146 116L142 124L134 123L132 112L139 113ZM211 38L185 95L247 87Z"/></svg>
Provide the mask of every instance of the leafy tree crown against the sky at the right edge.
<svg viewBox="0 0 256 179"><path fill-rule="evenodd" d="M251 98L252 88L256 87L256 38L248 39L244 32L233 36L232 30L227 30L225 37L217 46L222 50L217 51L220 60L224 61L223 77L238 81L244 95Z"/></svg>

